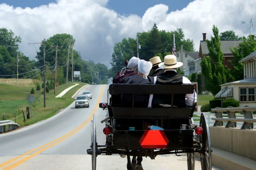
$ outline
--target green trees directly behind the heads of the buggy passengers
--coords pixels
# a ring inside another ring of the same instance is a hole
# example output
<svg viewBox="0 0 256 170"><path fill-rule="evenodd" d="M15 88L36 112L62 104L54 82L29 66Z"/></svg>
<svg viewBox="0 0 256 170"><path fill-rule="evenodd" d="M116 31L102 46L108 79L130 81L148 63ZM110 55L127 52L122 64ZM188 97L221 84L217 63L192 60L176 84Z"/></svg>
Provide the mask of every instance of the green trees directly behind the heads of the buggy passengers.
<svg viewBox="0 0 256 170"><path fill-rule="evenodd" d="M181 45L185 51L195 51L193 40L185 39L184 32L178 28L175 31L166 32L158 30L156 24L148 32L137 33L139 49L139 58L149 61L151 57L159 56L163 61L165 55L171 54L173 44L176 51L179 51ZM137 57L137 38L124 38L121 42L116 43L113 48L111 57L111 69L108 72L108 77L113 78L115 74L124 67L124 59L130 59L133 56Z"/></svg>

